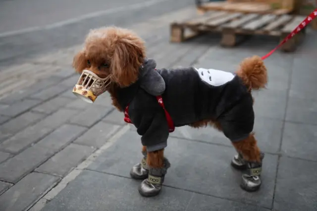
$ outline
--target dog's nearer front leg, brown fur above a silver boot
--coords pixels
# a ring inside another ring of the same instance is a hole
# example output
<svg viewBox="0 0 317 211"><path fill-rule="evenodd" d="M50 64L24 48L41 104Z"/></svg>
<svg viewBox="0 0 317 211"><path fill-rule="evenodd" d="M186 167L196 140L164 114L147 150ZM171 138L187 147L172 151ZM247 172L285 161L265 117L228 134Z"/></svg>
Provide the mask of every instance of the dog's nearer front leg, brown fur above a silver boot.
<svg viewBox="0 0 317 211"><path fill-rule="evenodd" d="M159 194L170 163L167 158L164 158L164 150L162 149L148 152L147 165L149 175L148 178L141 183L139 193L144 197L153 197Z"/></svg>

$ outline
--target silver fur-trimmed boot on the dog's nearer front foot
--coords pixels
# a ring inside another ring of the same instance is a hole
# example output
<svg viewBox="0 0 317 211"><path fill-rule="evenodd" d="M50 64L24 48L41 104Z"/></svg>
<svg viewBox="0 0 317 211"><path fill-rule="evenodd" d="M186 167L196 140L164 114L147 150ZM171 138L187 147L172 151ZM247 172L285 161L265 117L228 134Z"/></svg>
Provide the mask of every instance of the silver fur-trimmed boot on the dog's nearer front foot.
<svg viewBox="0 0 317 211"><path fill-rule="evenodd" d="M149 166L149 176L143 180L139 186L139 193L144 197L157 196L164 182L164 177L170 163L167 158L164 158L164 166L162 168L153 168Z"/></svg>

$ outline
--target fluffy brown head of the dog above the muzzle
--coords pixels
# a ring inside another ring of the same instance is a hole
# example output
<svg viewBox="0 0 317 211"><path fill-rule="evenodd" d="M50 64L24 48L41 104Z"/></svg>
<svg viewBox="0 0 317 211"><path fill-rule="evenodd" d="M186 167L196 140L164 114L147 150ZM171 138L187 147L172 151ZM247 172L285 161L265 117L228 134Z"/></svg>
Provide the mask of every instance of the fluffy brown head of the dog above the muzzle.
<svg viewBox="0 0 317 211"><path fill-rule="evenodd" d="M100 78L109 78L119 87L138 79L145 58L145 43L134 32L118 27L91 30L84 48L74 57L76 72L89 70Z"/></svg>

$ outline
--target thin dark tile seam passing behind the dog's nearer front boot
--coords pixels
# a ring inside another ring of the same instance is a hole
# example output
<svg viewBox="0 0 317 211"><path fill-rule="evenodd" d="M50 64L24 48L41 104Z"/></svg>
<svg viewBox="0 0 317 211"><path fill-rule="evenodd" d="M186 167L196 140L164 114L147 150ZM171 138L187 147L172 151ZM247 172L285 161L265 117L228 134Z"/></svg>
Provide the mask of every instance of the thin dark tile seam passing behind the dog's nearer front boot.
<svg viewBox="0 0 317 211"><path fill-rule="evenodd" d="M93 171L93 172L97 172L97 173L101 173L101 174L107 174L107 175L111 175L111 176L117 176L117 177L121 177L121 178L130 179L130 180L135 181L133 178L128 177L128 176L122 176L122 175L108 173L108 172L104 172L104 171L93 170L93 169L90 169L90 168L85 168L84 170ZM228 201L231 201L231 202L237 202L237 203L240 203L240 204L251 205L251 206L256 207L253 204L248 204L248 203L244 203L244 202L240 202L240 201L235 201L235 200L232 200L232 199L229 199L229 198L214 196L214 195L211 195L211 194L201 193L201 192L193 191L193 190L189 190L189 189L178 188L178 187L174 187L174 186L170 186L170 185L163 185L163 186L168 187L168 188L172 188L172 189L182 190L182 191L186 191L186 192L190 192L190 193L200 194L200 195L203 195L203 196L214 197L214 198L217 198L217 199L228 200ZM264 208L264 209L268 209L268 210L271 209L271 208L267 208L267 207L263 207L263 206L259 206L259 207Z"/></svg>

